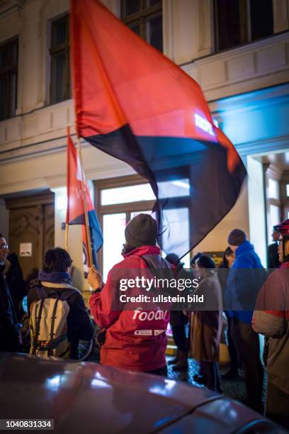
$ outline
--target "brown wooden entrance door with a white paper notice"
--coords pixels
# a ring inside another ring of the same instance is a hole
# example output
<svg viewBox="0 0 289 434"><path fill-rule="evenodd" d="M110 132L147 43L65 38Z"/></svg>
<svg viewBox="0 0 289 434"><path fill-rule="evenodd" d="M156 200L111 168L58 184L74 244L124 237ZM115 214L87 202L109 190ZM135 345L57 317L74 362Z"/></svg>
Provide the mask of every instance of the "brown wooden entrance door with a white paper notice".
<svg viewBox="0 0 289 434"><path fill-rule="evenodd" d="M54 194L6 199L9 251L18 255L23 277L42 267L45 251L54 246Z"/></svg>

